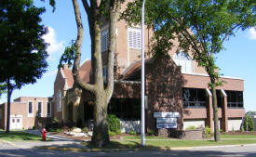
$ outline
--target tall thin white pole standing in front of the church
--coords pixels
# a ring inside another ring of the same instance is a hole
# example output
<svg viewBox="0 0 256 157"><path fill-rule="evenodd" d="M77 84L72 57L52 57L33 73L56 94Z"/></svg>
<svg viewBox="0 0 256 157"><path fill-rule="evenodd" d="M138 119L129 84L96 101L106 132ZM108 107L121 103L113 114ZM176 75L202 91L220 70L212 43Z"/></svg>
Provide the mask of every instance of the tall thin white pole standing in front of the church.
<svg viewBox="0 0 256 157"><path fill-rule="evenodd" d="M144 6L145 0L141 9L141 146L145 146Z"/></svg>

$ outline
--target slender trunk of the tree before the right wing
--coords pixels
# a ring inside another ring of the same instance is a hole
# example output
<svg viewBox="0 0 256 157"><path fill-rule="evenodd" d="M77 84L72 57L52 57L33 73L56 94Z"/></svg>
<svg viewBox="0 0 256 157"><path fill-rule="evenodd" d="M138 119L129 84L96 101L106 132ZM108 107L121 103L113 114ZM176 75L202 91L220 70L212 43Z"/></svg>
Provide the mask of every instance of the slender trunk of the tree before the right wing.
<svg viewBox="0 0 256 157"><path fill-rule="evenodd" d="M214 140L219 142L220 130L219 130L219 118L218 118L218 105L217 105L217 95L216 95L216 85L215 80L210 79L211 91L212 91L212 108L213 108L213 121L214 121Z"/></svg>

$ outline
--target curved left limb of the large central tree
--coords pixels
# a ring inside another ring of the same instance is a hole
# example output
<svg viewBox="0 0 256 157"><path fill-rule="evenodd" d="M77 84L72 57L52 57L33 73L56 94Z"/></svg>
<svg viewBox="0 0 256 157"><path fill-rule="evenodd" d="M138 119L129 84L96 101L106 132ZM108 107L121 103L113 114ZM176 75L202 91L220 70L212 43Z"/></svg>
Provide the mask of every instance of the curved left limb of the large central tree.
<svg viewBox="0 0 256 157"><path fill-rule="evenodd" d="M73 0L73 6L74 6L75 21L76 21L76 26L77 26L77 37L76 37L76 42L75 42L76 54L74 57L74 66L73 66L73 70L72 70L73 77L74 77L74 83L79 85L81 88L94 93L95 92L94 85L89 85L89 84L84 83L79 76L79 64L80 64L80 60L81 60L81 48L82 48L82 42L83 42L83 37L84 37L84 28L83 28L83 23L81 20L81 13L80 13L80 9L79 9L77 0Z"/></svg>

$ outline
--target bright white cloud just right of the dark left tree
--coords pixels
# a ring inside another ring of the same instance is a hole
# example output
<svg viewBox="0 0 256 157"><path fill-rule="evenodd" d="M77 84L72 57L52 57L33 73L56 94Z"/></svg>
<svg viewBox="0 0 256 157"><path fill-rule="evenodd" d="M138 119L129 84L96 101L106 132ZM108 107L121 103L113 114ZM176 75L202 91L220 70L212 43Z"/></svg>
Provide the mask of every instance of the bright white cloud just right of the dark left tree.
<svg viewBox="0 0 256 157"><path fill-rule="evenodd" d="M49 44L49 46L47 46L49 58L51 58L51 55L54 53L62 53L64 49L64 41L57 41L53 28L48 27L48 33L44 35L43 38L45 39L46 43Z"/></svg>

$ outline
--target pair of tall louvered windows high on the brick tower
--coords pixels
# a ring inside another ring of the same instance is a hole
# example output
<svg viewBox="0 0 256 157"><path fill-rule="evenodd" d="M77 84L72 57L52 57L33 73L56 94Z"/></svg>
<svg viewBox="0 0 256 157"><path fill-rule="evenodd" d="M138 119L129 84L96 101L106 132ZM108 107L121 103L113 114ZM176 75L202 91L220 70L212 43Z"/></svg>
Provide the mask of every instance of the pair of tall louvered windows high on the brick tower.
<svg viewBox="0 0 256 157"><path fill-rule="evenodd" d="M108 30L101 32L101 52L108 50L109 33ZM141 49L141 29L128 28L128 47Z"/></svg>

